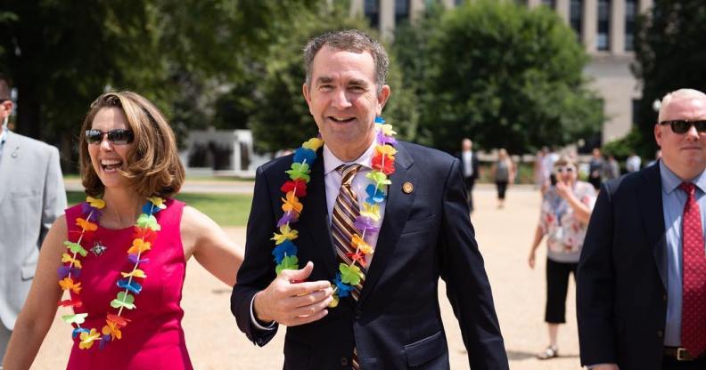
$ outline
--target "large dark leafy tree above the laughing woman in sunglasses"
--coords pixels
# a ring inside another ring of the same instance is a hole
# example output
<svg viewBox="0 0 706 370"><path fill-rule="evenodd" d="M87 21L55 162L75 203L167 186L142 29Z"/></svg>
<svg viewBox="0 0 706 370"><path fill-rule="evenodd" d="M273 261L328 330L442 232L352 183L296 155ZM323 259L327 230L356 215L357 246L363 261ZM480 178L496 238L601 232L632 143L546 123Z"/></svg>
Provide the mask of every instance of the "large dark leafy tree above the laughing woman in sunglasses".
<svg viewBox="0 0 706 370"><path fill-rule="evenodd" d="M89 104L109 87L154 101L177 133L206 127L219 87L242 84L289 10L322 1L5 1L0 68L18 89L17 129L60 141L67 160Z"/></svg>

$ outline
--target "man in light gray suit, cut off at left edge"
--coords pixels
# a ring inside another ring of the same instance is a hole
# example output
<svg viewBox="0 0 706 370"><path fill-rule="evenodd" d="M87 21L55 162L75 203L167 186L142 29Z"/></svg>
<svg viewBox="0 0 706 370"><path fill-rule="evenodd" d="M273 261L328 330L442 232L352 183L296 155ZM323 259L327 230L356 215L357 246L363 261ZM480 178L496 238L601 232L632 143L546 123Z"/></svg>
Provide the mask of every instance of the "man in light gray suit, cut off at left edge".
<svg viewBox="0 0 706 370"><path fill-rule="evenodd" d="M66 208L59 150L7 129L10 85L0 75L0 364L46 232Z"/></svg>

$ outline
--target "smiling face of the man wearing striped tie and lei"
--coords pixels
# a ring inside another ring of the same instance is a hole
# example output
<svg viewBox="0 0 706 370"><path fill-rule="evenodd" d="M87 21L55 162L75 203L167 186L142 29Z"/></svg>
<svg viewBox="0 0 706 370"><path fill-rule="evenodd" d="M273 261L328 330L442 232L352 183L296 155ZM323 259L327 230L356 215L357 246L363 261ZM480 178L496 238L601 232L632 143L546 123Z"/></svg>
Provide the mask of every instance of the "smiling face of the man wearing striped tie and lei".
<svg viewBox="0 0 706 370"><path fill-rule="evenodd" d="M303 93L309 112L326 145L341 160L360 157L374 139L375 116L390 96L390 86L378 93L370 52L345 52L328 46L316 53L311 86Z"/></svg>

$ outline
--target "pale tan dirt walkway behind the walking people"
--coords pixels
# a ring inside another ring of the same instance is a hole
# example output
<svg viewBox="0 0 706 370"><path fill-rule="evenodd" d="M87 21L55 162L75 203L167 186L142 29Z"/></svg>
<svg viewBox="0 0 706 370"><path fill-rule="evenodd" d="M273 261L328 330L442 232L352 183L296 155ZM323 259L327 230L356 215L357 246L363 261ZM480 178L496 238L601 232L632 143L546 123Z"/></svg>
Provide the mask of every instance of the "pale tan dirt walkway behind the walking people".
<svg viewBox="0 0 706 370"><path fill-rule="evenodd" d="M514 190L514 191L513 191ZM497 314L505 337L510 368L517 370L579 369L574 286L571 283L567 325L560 331L562 358L538 361L534 354L546 345L543 323L545 304L545 251L538 267L527 267L527 253L537 225L539 195L530 189L509 189L505 209L495 208L495 194L483 187L475 193L473 213L480 249L493 287ZM235 240L244 240L243 228L227 229ZM448 304L443 284L439 289L453 369L468 368L464 343ZM264 348L248 342L229 310L230 288L209 276L195 261L189 263L184 288L184 329L196 369L278 369L283 362L283 330ZM61 313L60 313L61 314ZM39 351L37 369L66 366L70 329L58 319Z"/></svg>

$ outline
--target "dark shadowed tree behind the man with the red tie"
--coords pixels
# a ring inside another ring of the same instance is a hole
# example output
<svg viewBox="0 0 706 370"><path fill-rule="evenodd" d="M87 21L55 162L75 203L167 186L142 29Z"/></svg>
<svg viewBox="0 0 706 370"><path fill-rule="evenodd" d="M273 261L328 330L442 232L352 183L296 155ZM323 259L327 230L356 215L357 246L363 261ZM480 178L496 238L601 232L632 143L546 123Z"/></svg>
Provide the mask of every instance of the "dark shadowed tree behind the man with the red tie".
<svg viewBox="0 0 706 370"><path fill-rule="evenodd" d="M680 88L706 92L706 7L699 0L655 0L653 11L637 20L633 72L642 81L639 153L653 157L657 144L653 101Z"/></svg>

